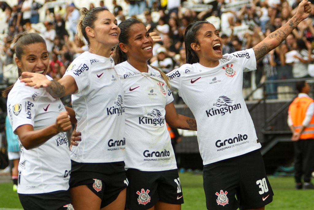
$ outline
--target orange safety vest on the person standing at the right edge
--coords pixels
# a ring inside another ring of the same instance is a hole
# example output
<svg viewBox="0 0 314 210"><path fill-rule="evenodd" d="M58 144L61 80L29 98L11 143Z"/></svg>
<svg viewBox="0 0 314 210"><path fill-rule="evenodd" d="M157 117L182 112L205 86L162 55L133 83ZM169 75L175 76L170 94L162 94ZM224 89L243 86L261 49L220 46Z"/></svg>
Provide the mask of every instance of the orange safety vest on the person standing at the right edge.
<svg viewBox="0 0 314 210"><path fill-rule="evenodd" d="M309 97L297 97L290 104L289 112L296 132L301 129L307 108L312 102L314 100ZM300 139L314 139L314 115L310 124L301 133Z"/></svg>

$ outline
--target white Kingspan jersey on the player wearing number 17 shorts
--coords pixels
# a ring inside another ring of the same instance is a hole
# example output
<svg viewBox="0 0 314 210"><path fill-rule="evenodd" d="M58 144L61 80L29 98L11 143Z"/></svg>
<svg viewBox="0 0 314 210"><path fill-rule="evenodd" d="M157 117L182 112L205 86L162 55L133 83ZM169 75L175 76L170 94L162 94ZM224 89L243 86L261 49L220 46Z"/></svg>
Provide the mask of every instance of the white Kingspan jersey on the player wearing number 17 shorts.
<svg viewBox="0 0 314 210"><path fill-rule="evenodd" d="M141 171L176 169L176 159L165 122L165 106L172 94L159 71L142 73L127 62L116 65L124 97L127 139L125 168Z"/></svg>

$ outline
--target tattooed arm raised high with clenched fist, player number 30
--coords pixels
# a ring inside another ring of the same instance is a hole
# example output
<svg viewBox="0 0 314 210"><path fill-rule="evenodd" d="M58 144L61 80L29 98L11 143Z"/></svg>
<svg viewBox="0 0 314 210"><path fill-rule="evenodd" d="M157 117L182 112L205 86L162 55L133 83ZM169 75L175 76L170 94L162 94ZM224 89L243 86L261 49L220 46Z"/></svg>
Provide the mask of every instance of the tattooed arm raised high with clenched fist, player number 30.
<svg viewBox="0 0 314 210"><path fill-rule="evenodd" d="M302 0L299 4L297 13L282 27L269 34L263 41L258 43L252 49L255 52L256 60L259 60L269 51L278 47L291 33L293 29L311 13L310 2Z"/></svg>

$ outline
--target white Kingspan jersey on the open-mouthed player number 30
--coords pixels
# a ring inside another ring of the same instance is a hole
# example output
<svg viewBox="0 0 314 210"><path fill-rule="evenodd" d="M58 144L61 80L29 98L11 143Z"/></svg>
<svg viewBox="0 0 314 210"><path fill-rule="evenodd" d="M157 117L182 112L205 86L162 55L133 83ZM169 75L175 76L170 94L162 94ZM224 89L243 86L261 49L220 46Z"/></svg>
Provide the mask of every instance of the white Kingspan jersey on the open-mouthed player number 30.
<svg viewBox="0 0 314 210"><path fill-rule="evenodd" d="M184 64L167 75L197 121L203 164L236 157L261 147L242 95L243 71L256 69L252 49L225 54L207 68Z"/></svg>

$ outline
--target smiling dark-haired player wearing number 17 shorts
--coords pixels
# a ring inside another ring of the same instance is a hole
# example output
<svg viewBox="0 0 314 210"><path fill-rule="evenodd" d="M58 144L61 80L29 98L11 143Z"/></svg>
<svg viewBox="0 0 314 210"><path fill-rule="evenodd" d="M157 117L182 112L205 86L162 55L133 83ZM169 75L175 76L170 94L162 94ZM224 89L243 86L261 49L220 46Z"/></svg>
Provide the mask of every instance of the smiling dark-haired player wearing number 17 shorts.
<svg viewBox="0 0 314 210"><path fill-rule="evenodd" d="M165 120L188 130L196 130L196 121L176 113L168 77L147 65L153 57L153 39L143 23L127 19L119 28L120 43L113 57L125 97L126 206L130 210L179 210L183 195Z"/></svg>

